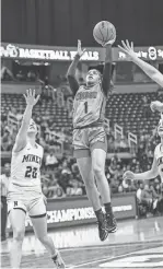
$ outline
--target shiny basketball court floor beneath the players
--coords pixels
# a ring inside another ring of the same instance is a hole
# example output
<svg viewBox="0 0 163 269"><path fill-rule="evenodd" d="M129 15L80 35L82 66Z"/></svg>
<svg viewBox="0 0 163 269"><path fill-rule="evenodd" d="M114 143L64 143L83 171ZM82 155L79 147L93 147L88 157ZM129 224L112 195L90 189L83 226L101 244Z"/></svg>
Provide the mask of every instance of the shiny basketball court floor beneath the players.
<svg viewBox="0 0 163 269"><path fill-rule="evenodd" d="M102 243L95 225L49 231L67 268L163 268L163 217L118 223ZM1 268L9 268L11 238L1 245ZM21 268L54 268L33 234L23 243Z"/></svg>

